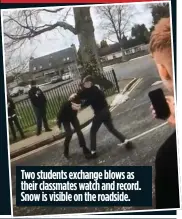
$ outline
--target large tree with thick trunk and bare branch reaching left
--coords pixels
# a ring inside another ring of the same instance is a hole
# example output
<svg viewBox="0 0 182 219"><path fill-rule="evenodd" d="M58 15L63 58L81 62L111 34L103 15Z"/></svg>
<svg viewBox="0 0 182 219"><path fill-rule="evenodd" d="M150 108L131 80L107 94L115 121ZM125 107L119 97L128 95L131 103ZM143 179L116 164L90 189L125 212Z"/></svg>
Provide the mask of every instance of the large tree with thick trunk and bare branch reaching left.
<svg viewBox="0 0 182 219"><path fill-rule="evenodd" d="M85 74L98 75L103 70L98 56L90 8L73 8L75 26L66 21L70 10L45 8L9 11L4 15L5 50L12 54L27 42L33 42L32 40L41 34L68 30L78 36ZM54 19L45 22L41 19L43 16L54 16Z"/></svg>

